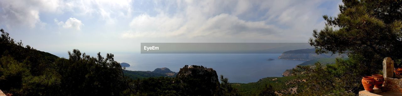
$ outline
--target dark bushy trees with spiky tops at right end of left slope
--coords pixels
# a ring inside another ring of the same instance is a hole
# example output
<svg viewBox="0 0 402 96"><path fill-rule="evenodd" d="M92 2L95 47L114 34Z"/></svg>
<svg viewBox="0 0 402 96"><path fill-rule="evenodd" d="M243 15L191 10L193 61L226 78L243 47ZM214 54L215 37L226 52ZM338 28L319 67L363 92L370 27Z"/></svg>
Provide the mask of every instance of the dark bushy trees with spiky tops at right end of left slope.
<svg viewBox="0 0 402 96"><path fill-rule="evenodd" d="M61 74L59 86L62 94L69 95L119 95L127 88L119 63L114 61L113 54L106 58L98 53L98 57L90 57L74 49L68 52L69 59L55 61L56 72ZM63 93L65 92L65 93Z"/></svg>

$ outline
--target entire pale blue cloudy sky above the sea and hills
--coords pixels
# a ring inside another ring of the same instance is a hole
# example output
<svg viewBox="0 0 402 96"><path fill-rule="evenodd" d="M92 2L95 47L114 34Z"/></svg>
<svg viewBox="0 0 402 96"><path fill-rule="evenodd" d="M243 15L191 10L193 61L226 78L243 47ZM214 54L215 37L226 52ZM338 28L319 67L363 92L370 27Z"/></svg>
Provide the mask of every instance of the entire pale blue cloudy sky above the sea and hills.
<svg viewBox="0 0 402 96"><path fill-rule="evenodd" d="M140 43L306 43L341 0L0 0L0 27L50 53L136 52Z"/></svg>

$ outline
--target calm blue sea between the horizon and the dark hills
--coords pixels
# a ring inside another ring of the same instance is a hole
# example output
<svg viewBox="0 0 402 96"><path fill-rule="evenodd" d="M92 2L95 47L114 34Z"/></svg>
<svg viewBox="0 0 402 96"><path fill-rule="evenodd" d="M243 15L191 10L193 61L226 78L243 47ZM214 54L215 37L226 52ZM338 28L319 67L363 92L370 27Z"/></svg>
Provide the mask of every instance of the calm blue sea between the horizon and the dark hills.
<svg viewBox="0 0 402 96"><path fill-rule="evenodd" d="M154 71L166 67L178 72L185 65L202 65L229 78L230 82L257 82L265 77L281 77L286 69L304 63L278 59L281 54L115 54L119 63L129 63L126 70ZM267 61L267 59L275 59Z"/></svg>

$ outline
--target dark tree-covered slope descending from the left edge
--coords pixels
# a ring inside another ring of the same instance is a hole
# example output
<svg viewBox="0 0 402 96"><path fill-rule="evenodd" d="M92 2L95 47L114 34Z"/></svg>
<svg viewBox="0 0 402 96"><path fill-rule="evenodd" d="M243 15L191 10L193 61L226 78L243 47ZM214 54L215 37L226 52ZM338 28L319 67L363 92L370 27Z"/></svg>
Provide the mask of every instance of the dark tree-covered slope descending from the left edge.
<svg viewBox="0 0 402 96"><path fill-rule="evenodd" d="M0 38L0 89L14 95L120 95L127 89L113 59L90 57L74 49L69 59L15 42L3 29Z"/></svg>

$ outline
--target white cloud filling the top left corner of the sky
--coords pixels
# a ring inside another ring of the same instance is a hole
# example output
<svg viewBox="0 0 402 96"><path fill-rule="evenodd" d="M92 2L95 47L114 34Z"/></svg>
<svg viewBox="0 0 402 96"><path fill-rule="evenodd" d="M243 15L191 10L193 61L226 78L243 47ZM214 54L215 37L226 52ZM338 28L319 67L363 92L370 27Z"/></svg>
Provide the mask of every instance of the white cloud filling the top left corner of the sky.
<svg viewBox="0 0 402 96"><path fill-rule="evenodd" d="M43 25L39 19L41 12L58 13L58 0L0 0L0 21L7 26Z"/></svg>

